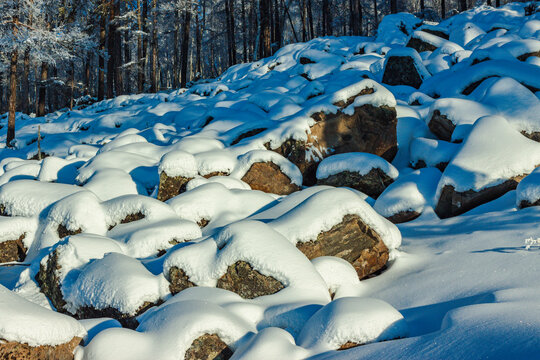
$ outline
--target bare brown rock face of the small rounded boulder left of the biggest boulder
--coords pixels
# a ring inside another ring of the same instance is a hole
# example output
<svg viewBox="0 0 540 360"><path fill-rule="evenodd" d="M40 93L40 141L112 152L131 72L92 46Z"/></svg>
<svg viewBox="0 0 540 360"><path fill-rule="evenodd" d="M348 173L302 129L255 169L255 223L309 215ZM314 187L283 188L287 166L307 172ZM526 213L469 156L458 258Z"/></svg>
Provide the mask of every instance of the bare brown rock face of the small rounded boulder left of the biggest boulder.
<svg viewBox="0 0 540 360"><path fill-rule="evenodd" d="M254 163L242 177L242 181L249 184L253 190L278 195L289 195L300 190L300 187L291 183L291 179L272 162Z"/></svg>

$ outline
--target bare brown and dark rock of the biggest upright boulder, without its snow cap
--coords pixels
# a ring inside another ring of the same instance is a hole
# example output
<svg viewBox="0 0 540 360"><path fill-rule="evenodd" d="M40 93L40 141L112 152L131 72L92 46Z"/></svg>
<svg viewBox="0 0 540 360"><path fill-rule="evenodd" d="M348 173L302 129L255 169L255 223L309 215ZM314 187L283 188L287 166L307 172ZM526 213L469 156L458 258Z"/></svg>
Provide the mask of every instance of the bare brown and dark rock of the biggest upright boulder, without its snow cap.
<svg viewBox="0 0 540 360"><path fill-rule="evenodd" d="M373 89L367 90L373 92ZM344 108L353 101L354 98L351 98L336 105ZM392 161L397 153L397 116L394 108L368 104L355 108L352 115L338 111L336 114L319 112L312 117L317 122L311 127L307 141L289 139L271 149L298 166L305 185L316 183L317 164L327 156L367 152ZM270 148L269 145L267 147Z"/></svg>

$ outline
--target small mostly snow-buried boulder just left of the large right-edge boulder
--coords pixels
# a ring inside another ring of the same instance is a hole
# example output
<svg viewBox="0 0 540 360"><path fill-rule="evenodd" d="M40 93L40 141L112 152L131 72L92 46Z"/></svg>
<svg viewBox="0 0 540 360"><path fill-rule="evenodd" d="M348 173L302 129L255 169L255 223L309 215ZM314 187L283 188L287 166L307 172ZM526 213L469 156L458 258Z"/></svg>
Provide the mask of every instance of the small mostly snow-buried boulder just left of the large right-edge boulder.
<svg viewBox="0 0 540 360"><path fill-rule="evenodd" d="M379 196L373 208L394 224L414 220L426 207L433 206L440 178L436 168L402 176Z"/></svg>

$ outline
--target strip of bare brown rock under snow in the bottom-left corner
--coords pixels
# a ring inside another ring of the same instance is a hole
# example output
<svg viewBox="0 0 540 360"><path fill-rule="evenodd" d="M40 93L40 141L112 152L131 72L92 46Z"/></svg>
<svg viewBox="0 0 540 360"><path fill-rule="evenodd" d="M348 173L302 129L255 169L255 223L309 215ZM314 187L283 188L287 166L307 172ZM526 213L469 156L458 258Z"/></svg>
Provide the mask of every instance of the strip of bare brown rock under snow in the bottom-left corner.
<svg viewBox="0 0 540 360"><path fill-rule="evenodd" d="M3 342L0 339L0 359L5 360L72 360L73 351L81 343L80 337L57 346L30 346L14 341Z"/></svg>

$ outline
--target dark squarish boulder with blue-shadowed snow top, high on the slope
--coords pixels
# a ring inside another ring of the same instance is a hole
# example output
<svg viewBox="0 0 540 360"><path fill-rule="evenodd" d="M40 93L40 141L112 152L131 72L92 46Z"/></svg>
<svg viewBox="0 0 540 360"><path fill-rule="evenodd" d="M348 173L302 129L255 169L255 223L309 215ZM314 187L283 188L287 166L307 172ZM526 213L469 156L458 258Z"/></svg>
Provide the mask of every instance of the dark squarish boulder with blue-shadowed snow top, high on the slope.
<svg viewBox="0 0 540 360"><path fill-rule="evenodd" d="M382 82L388 85L409 85L419 88L430 77L420 55L411 48L395 48L386 54Z"/></svg>

